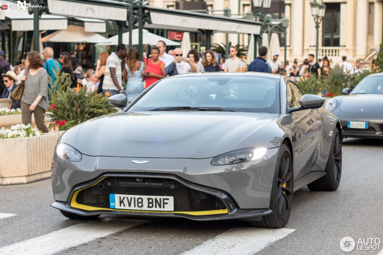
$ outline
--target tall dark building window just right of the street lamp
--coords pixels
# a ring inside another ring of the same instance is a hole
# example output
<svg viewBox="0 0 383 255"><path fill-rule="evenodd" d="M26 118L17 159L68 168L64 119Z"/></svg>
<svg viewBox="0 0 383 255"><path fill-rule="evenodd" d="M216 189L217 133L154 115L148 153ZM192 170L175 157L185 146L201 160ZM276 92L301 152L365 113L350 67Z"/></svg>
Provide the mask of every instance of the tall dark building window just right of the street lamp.
<svg viewBox="0 0 383 255"><path fill-rule="evenodd" d="M340 38L340 3L326 3L323 18L322 46L339 47Z"/></svg>

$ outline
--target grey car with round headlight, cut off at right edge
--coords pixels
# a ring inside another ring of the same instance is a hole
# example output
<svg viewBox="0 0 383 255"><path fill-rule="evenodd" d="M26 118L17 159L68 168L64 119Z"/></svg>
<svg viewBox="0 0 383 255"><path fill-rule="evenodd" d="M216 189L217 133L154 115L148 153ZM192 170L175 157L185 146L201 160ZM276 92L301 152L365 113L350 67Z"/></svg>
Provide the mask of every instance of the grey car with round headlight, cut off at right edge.
<svg viewBox="0 0 383 255"><path fill-rule="evenodd" d="M340 119L343 137L383 138L383 74L368 75L343 94L324 106Z"/></svg>

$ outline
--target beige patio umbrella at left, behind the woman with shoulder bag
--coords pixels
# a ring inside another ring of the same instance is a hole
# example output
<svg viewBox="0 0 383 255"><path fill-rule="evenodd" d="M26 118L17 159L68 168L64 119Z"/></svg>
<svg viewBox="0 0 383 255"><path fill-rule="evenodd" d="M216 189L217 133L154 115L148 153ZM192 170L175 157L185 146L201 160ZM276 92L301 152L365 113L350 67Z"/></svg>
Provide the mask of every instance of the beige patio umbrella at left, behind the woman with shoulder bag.
<svg viewBox="0 0 383 255"><path fill-rule="evenodd" d="M82 26L69 25L40 39L40 42L54 43L107 43L109 39L93 32L85 32Z"/></svg>

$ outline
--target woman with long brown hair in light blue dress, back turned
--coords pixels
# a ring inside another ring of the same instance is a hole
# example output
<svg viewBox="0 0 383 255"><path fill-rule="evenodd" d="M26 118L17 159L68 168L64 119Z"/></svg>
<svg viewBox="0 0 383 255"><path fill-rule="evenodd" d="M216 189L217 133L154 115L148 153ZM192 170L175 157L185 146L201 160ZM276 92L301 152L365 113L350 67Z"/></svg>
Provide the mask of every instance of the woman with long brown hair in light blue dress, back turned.
<svg viewBox="0 0 383 255"><path fill-rule="evenodd" d="M144 91L144 82L142 82L141 72L144 70L144 62L139 60L136 48L128 50L126 57L125 70L128 74L128 82L126 83L126 94L128 101L131 102L142 91Z"/></svg>

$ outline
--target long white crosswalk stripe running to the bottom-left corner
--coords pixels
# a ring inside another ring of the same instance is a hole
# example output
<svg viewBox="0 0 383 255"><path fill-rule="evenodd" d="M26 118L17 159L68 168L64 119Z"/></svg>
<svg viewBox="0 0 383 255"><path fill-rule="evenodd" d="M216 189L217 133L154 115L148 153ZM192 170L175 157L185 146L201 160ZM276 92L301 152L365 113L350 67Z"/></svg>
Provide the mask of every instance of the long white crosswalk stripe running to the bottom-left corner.
<svg viewBox="0 0 383 255"><path fill-rule="evenodd" d="M61 250L90 242L100 237L138 226L147 221L122 219L101 219L80 223L65 229L35 237L23 242L0 248L0 254L34 254L49 255Z"/></svg>

